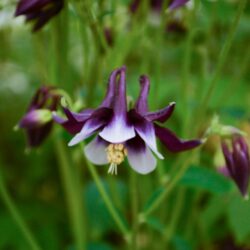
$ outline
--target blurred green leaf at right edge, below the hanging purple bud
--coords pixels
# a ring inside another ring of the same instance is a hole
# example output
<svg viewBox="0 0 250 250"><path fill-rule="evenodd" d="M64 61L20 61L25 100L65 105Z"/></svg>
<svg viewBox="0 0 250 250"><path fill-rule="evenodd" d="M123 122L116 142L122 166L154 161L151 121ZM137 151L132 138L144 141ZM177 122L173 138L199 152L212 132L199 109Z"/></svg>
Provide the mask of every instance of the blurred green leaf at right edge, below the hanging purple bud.
<svg viewBox="0 0 250 250"><path fill-rule="evenodd" d="M242 197L233 197L228 206L229 225L239 243L250 236L250 201Z"/></svg>

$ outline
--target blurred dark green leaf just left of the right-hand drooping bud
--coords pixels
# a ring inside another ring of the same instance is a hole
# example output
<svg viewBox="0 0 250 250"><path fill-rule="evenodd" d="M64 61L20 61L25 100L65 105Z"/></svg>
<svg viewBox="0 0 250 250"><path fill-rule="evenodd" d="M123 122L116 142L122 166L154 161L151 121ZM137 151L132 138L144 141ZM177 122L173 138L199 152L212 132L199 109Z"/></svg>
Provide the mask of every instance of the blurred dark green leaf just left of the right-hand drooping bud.
<svg viewBox="0 0 250 250"><path fill-rule="evenodd" d="M223 175L202 167L190 167L179 184L203 189L214 194L224 194L232 188L230 180Z"/></svg>

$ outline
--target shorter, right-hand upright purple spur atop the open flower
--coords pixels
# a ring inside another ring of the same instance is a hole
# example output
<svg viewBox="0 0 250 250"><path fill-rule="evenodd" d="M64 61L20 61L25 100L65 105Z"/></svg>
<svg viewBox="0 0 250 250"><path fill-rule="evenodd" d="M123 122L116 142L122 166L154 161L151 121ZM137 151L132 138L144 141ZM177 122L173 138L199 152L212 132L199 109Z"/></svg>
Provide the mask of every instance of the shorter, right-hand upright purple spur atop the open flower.
<svg viewBox="0 0 250 250"><path fill-rule="evenodd" d="M150 87L150 82L147 76L142 75L140 77L140 85L141 85L141 90L140 90L140 95L135 104L135 110L139 114L144 115L148 112L148 94Z"/></svg>

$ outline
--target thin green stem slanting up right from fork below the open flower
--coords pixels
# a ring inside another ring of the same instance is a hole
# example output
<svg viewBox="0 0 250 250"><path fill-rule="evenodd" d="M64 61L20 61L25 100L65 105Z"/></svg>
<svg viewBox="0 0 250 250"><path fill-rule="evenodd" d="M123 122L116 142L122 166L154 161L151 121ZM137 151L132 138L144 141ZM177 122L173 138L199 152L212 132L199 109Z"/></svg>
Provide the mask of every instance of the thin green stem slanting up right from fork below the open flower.
<svg viewBox="0 0 250 250"><path fill-rule="evenodd" d="M141 222L145 221L146 218L162 204L162 202L166 199L170 192L175 188L178 181L182 178L182 176L190 166L190 163L192 162L194 156L195 154L191 153L190 156L185 159L179 171L170 179L169 182L166 183L164 191L144 212L139 215Z"/></svg>

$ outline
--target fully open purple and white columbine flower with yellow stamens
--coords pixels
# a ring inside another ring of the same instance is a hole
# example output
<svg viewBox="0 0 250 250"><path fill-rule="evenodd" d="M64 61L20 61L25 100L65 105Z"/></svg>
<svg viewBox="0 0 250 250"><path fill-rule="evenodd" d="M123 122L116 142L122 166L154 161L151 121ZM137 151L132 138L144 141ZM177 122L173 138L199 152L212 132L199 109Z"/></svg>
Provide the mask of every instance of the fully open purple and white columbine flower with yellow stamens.
<svg viewBox="0 0 250 250"><path fill-rule="evenodd" d="M166 121L175 104L171 103L157 112L148 112L149 81L145 76L141 77L141 93L136 106L127 112L125 70L125 67L122 67L112 72L106 97L97 109L76 114L65 108L67 119L55 116L55 120L66 130L76 134L69 146L97 133L84 152L94 164L109 163L109 173L116 174L117 166L127 157L135 171L147 174L156 167L152 151L163 159L157 150L156 136L174 152L194 148L201 142L182 141L170 130L154 124L155 121Z"/></svg>

